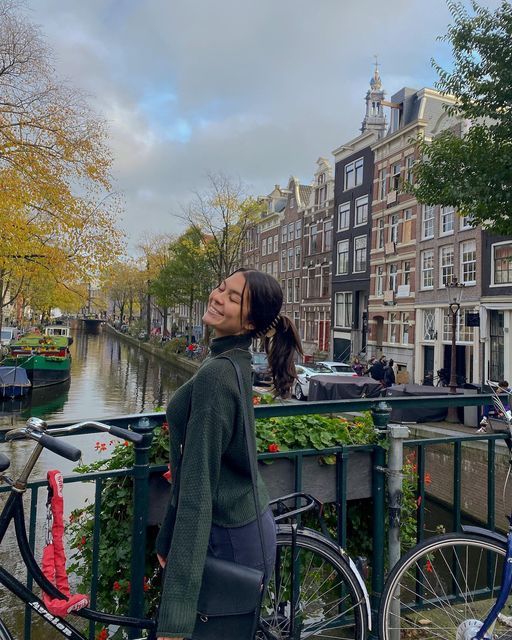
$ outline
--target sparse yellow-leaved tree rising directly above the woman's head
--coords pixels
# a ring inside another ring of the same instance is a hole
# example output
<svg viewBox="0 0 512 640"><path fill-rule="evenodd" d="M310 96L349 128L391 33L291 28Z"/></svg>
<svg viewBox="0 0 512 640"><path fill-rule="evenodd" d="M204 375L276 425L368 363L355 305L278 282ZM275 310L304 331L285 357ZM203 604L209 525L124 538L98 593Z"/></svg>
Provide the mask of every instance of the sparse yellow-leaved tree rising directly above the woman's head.
<svg viewBox="0 0 512 640"><path fill-rule="evenodd" d="M208 176L209 188L197 193L185 218L217 282L239 265L242 243L263 205L245 194L244 187L222 173Z"/></svg>

